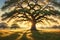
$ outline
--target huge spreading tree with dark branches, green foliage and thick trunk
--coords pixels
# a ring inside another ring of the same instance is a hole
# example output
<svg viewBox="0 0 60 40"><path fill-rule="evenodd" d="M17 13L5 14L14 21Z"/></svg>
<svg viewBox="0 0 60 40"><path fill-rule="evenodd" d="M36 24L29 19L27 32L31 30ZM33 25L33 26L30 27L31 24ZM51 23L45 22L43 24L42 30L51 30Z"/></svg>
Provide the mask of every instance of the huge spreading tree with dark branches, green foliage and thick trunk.
<svg viewBox="0 0 60 40"><path fill-rule="evenodd" d="M42 20L51 20L56 22L56 20L47 18L50 15L60 14L59 11L54 10L53 7L49 6L50 3L41 5L39 0L8 0L5 1L5 5L2 7L2 10L15 7L11 12L5 13L2 15L2 20L9 18L8 22L13 18L16 19L16 22L21 21L30 21L32 23L31 30L36 30L36 23L42 22ZM48 9L48 10L47 10ZM22 16L19 16L22 14ZM47 21L48 22L48 21ZM49 22L48 22L49 23Z"/></svg>

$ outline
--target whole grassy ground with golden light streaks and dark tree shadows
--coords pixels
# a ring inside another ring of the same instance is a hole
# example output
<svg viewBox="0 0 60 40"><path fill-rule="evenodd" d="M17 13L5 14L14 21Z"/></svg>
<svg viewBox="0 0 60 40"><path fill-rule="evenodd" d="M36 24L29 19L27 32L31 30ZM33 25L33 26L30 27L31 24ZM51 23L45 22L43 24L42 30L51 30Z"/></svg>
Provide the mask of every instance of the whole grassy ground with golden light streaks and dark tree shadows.
<svg viewBox="0 0 60 40"><path fill-rule="evenodd" d="M0 30L0 40L60 40L60 31Z"/></svg>

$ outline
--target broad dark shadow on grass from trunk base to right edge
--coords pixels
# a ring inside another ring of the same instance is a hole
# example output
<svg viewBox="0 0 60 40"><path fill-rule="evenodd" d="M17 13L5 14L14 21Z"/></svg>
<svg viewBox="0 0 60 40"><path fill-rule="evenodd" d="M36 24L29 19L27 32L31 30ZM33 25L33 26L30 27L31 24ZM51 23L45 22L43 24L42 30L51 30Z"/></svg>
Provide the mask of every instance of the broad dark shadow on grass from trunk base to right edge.
<svg viewBox="0 0 60 40"><path fill-rule="evenodd" d="M60 40L60 34L31 31L34 40Z"/></svg>

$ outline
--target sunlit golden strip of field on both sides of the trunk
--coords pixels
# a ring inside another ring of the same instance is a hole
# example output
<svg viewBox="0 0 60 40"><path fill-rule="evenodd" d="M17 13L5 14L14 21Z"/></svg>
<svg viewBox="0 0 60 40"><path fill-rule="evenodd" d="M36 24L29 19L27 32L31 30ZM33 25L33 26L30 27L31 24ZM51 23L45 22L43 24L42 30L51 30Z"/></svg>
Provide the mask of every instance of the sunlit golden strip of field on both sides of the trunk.
<svg viewBox="0 0 60 40"><path fill-rule="evenodd" d="M13 32L20 32L20 31L24 31L24 30L29 30L29 29L0 29L0 31L13 31ZM42 32L60 32L60 29L38 29Z"/></svg>

